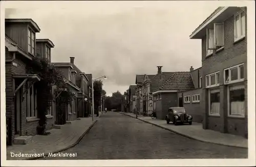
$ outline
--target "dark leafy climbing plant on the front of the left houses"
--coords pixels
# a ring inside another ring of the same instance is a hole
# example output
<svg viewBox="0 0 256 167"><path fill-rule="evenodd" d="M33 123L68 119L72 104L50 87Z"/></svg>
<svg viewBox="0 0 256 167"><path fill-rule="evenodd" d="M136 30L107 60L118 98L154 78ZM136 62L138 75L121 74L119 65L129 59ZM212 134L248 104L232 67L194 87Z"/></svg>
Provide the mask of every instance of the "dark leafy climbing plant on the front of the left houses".
<svg viewBox="0 0 256 167"><path fill-rule="evenodd" d="M62 73L51 65L47 59L35 57L28 63L27 70L29 73L37 74L40 77L40 81L34 84L37 90L37 96L40 97L40 101L38 100L37 102L37 112L40 119L39 126L37 126L37 133L45 134L47 125L46 115L53 100L52 86L55 85L57 89L66 90L59 96L60 102L62 103L71 103L75 96L67 87Z"/></svg>

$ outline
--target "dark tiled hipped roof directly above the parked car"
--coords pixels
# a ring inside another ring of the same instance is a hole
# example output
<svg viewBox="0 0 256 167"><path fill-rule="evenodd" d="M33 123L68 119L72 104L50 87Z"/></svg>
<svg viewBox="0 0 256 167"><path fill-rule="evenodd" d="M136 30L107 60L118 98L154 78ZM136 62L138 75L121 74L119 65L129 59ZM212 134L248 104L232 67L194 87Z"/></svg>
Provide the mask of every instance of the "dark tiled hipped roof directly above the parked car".
<svg viewBox="0 0 256 167"><path fill-rule="evenodd" d="M173 72L158 88L158 90L184 90L194 89L190 72Z"/></svg>

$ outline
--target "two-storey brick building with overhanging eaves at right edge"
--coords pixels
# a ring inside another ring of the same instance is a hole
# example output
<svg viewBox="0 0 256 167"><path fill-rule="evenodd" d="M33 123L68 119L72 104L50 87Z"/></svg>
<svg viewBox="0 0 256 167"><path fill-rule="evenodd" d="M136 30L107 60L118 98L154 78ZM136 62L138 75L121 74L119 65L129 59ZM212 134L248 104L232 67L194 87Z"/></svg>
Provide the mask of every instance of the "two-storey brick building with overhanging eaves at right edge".
<svg viewBox="0 0 256 167"><path fill-rule="evenodd" d="M219 7L190 35L202 40L203 128L247 137L247 12Z"/></svg>

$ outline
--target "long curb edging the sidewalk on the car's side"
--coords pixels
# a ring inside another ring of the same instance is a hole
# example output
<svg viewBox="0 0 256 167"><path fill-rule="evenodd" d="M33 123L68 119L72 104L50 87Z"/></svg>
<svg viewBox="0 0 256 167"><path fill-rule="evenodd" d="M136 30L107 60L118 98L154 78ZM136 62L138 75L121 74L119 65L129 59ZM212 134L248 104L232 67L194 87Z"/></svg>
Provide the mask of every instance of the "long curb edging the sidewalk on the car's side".
<svg viewBox="0 0 256 167"><path fill-rule="evenodd" d="M119 113L119 112L118 112L118 113ZM123 113L119 113L119 114L123 114ZM123 114L123 115L125 115L125 116L129 116L129 117L132 117L132 118L135 118L135 117L130 116L130 115L126 115L126 114ZM135 119L136 119L136 118L135 118ZM211 144L221 145L221 146L227 146L227 147L234 147L234 148L248 149L248 147L232 146L232 145L225 145L225 144L222 144L222 143L212 143L212 142L208 142L208 141L203 141L203 140L200 140L200 139L198 139L198 138L194 138L194 137L191 137L191 136L189 136L189 135L179 133L179 132L177 132L177 131L175 131L175 130L168 129L168 128L163 127L163 126L161 126L161 125L158 125L158 124L155 124L155 123L152 123L152 122L148 122L148 121L145 121L145 120L142 120L142 119L139 119L139 118L137 118L137 119L138 119L138 120L140 120L140 121L143 121L143 122L145 122L145 123L152 124L152 125L155 125L155 126L157 126L157 127L162 128L162 129L165 129L165 130L168 130L168 131L174 132L174 133L176 133L176 134L182 135L182 136L184 136L184 137L190 138L190 139L192 139L192 140L196 140L196 141L200 141L200 142L204 142L204 143L211 143Z"/></svg>

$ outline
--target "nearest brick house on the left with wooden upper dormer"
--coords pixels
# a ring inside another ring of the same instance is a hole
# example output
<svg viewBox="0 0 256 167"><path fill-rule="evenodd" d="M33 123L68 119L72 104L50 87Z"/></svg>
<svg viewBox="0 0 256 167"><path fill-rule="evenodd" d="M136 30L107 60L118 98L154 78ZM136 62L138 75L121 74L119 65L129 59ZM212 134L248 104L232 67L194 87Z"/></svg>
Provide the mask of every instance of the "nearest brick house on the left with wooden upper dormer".
<svg viewBox="0 0 256 167"><path fill-rule="evenodd" d="M37 74L29 73L28 63L36 57L38 25L32 19L5 19L6 120L7 144L20 141L19 136L37 133ZM48 115L52 119L51 113ZM47 129L52 127L49 123Z"/></svg>

